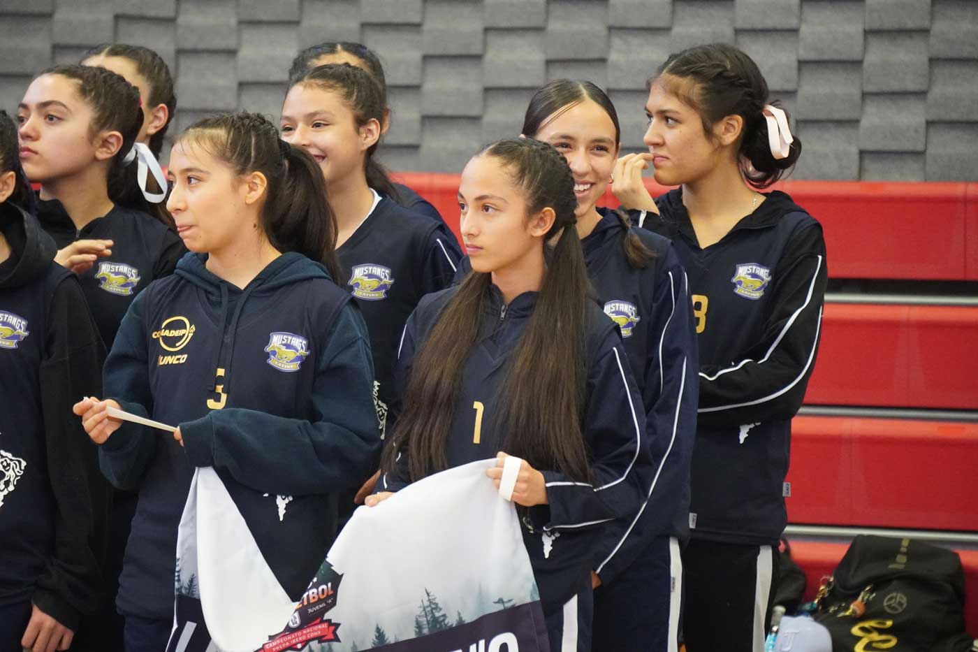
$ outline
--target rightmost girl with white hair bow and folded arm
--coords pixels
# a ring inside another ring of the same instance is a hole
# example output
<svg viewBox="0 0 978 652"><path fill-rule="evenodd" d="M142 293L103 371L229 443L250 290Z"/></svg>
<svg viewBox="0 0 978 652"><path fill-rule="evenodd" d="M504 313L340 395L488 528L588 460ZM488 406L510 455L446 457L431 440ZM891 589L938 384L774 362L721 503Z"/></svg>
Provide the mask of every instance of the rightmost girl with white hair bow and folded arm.
<svg viewBox="0 0 978 652"><path fill-rule="evenodd" d="M689 652L764 647L791 418L822 323L822 226L786 194L760 192L801 154L768 95L750 57L713 44L670 56L645 105L655 180L680 188L643 221L673 239L689 272L699 346L683 553Z"/></svg>

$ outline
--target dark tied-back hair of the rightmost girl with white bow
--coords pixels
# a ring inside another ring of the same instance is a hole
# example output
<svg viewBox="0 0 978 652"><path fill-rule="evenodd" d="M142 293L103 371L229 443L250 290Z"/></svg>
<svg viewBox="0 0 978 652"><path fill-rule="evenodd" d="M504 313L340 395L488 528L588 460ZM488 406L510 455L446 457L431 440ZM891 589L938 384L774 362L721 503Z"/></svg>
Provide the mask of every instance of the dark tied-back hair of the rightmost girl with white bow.
<svg viewBox="0 0 978 652"><path fill-rule="evenodd" d="M771 153L768 122L761 112L768 104L782 109L780 101L768 99L768 82L761 70L733 45L697 45L669 55L647 85L654 82L663 83L695 109L707 134L724 116L743 118L737 159L744 179L754 188L767 188L777 182L801 156L798 136L793 136L787 158L776 159Z"/></svg>

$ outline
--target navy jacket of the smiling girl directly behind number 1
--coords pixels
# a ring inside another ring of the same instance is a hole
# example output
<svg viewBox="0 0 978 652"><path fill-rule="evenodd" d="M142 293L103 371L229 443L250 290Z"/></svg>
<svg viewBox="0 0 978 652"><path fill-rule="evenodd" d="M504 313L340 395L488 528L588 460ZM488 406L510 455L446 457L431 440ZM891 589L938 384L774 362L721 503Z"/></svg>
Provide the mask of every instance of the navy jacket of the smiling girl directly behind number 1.
<svg viewBox="0 0 978 652"><path fill-rule="evenodd" d="M604 312L619 326L642 392L655 473L638 514L604 529L595 557L602 583L615 581L655 536L689 536L689 460L696 434L696 334L686 272L673 244L628 229L614 210L583 240L588 275ZM644 268L625 256L628 233L652 254Z"/></svg>

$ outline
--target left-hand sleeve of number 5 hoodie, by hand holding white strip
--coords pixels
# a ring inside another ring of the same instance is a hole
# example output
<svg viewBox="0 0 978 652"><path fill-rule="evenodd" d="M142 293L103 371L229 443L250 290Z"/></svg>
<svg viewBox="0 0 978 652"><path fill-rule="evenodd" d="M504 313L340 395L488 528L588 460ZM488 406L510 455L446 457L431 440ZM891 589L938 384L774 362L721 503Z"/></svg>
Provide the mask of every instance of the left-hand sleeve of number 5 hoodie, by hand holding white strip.
<svg viewBox="0 0 978 652"><path fill-rule="evenodd" d="M152 285L129 304L102 374L105 385L103 397L113 398L126 412L143 417L149 417L153 412L149 353L143 320L151 292ZM156 440L159 437L149 428L123 422L99 446L102 473L118 489L139 489L143 475L156 455Z"/></svg>

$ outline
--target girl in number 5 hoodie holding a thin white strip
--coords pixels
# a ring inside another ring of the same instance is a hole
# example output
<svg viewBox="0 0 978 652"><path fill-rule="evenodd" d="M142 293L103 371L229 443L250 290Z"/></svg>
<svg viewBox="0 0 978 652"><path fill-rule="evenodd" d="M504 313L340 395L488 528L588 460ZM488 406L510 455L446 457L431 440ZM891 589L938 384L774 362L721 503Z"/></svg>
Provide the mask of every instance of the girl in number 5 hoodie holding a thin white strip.
<svg viewBox="0 0 978 652"><path fill-rule="evenodd" d="M165 649L173 629L195 467L213 467L249 506L256 542L298 599L335 536L336 494L359 487L380 447L367 327L333 280L336 227L316 161L241 113L181 134L168 175L191 254L130 307L108 397L74 406L112 485L139 490L116 601L127 652ZM123 425L109 406L177 430ZM264 536L285 527L282 510L303 536Z"/></svg>

